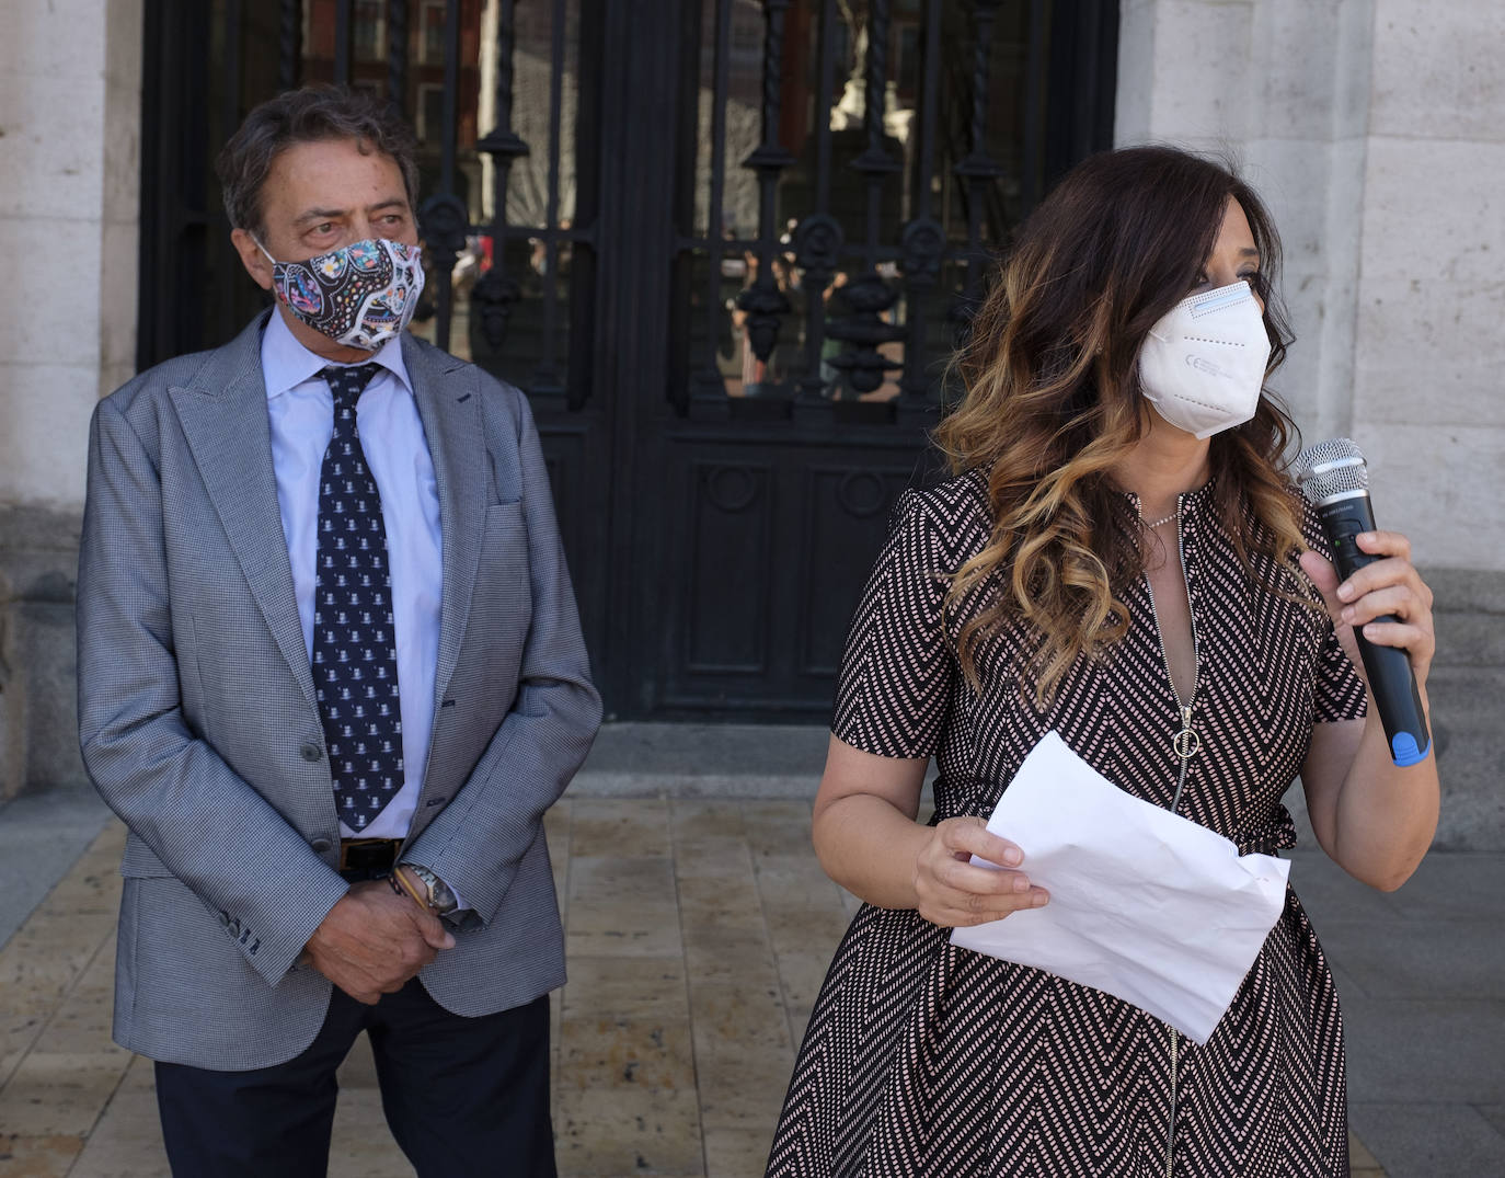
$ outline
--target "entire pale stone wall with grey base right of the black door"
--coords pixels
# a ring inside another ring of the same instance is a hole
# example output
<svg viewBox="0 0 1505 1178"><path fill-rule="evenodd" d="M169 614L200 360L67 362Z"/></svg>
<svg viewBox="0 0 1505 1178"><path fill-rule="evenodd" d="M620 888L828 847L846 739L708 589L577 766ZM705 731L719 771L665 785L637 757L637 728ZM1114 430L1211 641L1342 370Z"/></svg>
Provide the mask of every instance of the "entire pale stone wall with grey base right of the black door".
<svg viewBox="0 0 1505 1178"><path fill-rule="evenodd" d="M1126 0L1117 139L1234 155L1285 244L1275 384L1433 586L1440 847L1505 848L1505 6Z"/></svg>

